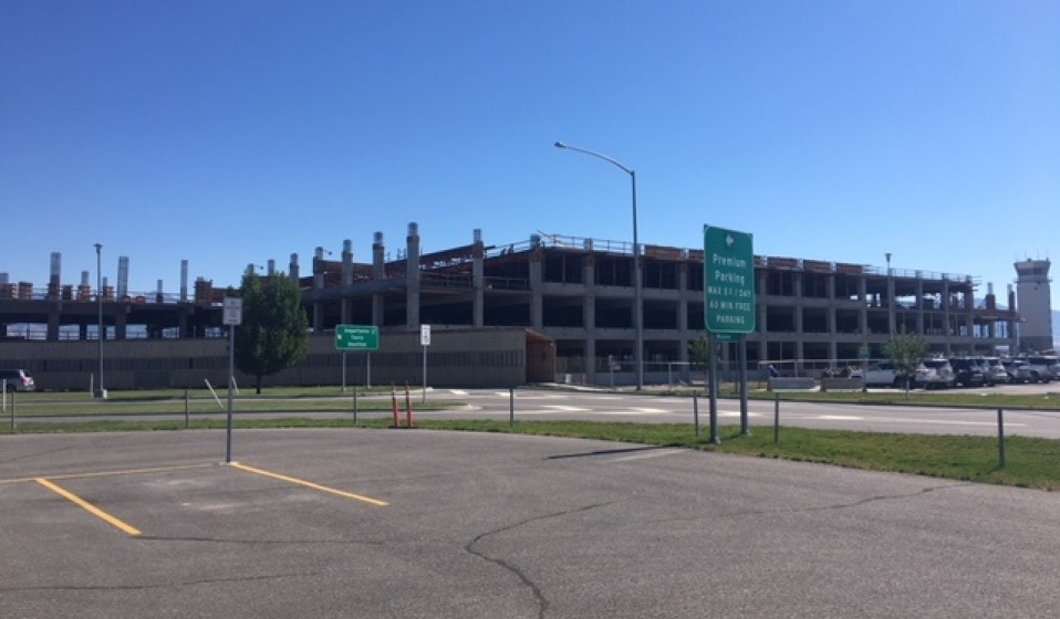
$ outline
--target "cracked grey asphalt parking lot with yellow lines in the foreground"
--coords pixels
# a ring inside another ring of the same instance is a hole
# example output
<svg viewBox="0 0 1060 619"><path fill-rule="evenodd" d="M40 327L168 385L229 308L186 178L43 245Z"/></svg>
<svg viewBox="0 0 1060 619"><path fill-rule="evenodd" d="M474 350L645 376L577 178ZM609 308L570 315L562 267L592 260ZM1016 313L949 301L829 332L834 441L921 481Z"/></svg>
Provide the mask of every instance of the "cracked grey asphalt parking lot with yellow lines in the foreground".
<svg viewBox="0 0 1060 619"><path fill-rule="evenodd" d="M0 616L1041 617L1060 496L418 430L0 437Z"/></svg>

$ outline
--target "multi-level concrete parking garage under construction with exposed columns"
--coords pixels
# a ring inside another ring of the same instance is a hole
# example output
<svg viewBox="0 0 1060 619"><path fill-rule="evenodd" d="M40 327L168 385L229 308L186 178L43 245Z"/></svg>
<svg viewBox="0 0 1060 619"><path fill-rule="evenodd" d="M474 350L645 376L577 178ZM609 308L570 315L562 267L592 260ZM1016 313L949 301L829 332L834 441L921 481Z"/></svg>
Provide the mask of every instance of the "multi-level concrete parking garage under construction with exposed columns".
<svg viewBox="0 0 1060 619"><path fill-rule="evenodd" d="M448 334L446 350L430 352L434 364L455 364L465 374L497 359L461 357L460 350L482 352L490 334L517 329L527 336L526 345L517 347L521 349L510 350L522 357L516 382L630 384L638 332L645 380L665 382L675 373L687 376L689 345L704 334L702 248L643 244L635 261L630 243L538 233L518 243L487 244L476 230L469 244L422 253L419 228L411 223L394 260L382 233L374 235L371 262L356 262L350 241L339 260L328 260L329 253L318 248L305 274L291 254L285 273L298 279L314 339L322 342L313 345L299 380L337 381L331 347L336 325L377 326L384 342L395 344L432 325L435 334ZM636 263L642 272L640 314L634 311ZM263 276L281 275L269 261ZM988 286L977 303L979 282L969 275L756 255L755 279L757 326L746 336L752 369L772 363L809 373L863 358L866 352L880 358L891 334L900 331L922 334L933 352L946 355L1018 349L1015 294L1009 290L1008 308L999 308ZM48 325L48 340L61 339L64 327L76 324L73 339L91 337L96 297L86 282L69 291L52 282L43 295L33 296L30 288L30 298L25 293L21 284L0 283L0 322ZM102 321L111 326L108 338L127 337L126 325L134 321L143 322L148 342L216 338L224 295L202 279L193 298L179 301L164 298L162 291L134 297L108 293ZM158 306L157 315L147 311L152 305ZM415 349L415 342L402 346ZM2 355L4 364L13 361ZM316 355L328 360L314 360ZM405 357L401 363L408 361ZM27 363L34 360L41 359L32 355ZM381 360L373 364L385 371ZM449 379L459 382L460 373Z"/></svg>

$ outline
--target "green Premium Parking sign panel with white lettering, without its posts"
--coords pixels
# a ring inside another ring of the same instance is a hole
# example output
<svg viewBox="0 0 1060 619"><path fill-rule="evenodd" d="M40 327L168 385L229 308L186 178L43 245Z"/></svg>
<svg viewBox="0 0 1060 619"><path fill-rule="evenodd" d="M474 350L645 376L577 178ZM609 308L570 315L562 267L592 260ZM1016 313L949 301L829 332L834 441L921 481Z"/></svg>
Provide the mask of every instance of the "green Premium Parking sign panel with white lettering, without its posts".
<svg viewBox="0 0 1060 619"><path fill-rule="evenodd" d="M704 313L711 333L755 331L755 249L751 234L703 227Z"/></svg>

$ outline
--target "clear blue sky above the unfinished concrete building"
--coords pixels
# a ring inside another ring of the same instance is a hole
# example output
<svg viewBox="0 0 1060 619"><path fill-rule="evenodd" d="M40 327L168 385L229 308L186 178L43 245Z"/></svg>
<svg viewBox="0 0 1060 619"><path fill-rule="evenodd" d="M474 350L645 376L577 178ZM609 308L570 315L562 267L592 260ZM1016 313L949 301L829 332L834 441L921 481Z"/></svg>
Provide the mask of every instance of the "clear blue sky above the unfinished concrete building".
<svg viewBox="0 0 1060 619"><path fill-rule="evenodd" d="M892 252L1004 302L1060 259L1058 61L1053 0L3 0L0 272L628 240L628 177L563 140L636 169L643 243Z"/></svg>

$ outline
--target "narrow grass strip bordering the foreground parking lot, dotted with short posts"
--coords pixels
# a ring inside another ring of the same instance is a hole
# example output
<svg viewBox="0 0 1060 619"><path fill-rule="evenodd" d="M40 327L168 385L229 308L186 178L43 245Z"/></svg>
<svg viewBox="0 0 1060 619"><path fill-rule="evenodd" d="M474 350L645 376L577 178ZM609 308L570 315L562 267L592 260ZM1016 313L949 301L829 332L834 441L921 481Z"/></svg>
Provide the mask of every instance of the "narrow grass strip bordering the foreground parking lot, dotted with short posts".
<svg viewBox="0 0 1060 619"><path fill-rule="evenodd" d="M363 429L385 429L393 423L387 418L361 419ZM243 419L237 429L271 428L351 428L351 419ZM1028 437L1006 439L1007 462L999 466L998 441L988 437L955 437L929 434L900 434L883 432L851 432L840 430L809 430L782 427L780 442L773 442L772 429L758 429L750 436L740 436L738 426L720 429L721 442L708 442L706 432L699 438L689 424L623 423L592 421L519 421L509 427L496 420L434 420L416 421L424 430L501 432L621 441L659 447L677 447L814 462L850 469L927 475L933 478L1029 487L1046 491L1060 490L1060 441ZM190 429L224 429L226 421L193 420ZM184 421L86 421L77 423L24 422L20 433L55 432L115 432L173 431L185 429ZM0 433L11 433L9 428Z"/></svg>

